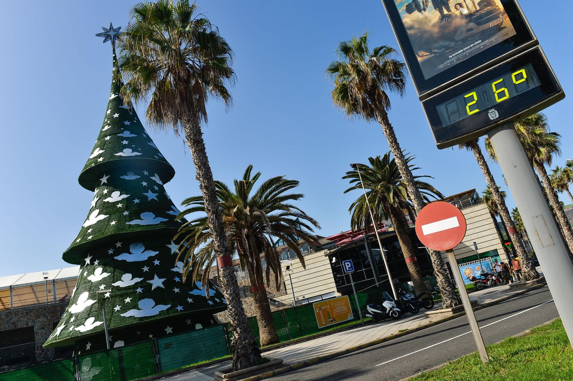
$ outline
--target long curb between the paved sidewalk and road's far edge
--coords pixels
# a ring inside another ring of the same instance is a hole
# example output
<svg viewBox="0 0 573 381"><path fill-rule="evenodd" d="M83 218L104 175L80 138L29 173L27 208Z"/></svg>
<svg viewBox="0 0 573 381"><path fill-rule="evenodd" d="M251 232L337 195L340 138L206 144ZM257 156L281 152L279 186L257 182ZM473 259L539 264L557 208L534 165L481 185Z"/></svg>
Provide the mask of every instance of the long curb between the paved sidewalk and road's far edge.
<svg viewBox="0 0 573 381"><path fill-rule="evenodd" d="M545 285L547 285L547 283L540 283L539 285L535 285L532 287L527 287L526 289L517 291L516 293L513 293L511 295L505 296L503 298L499 298L496 300L492 300L490 302L486 302L482 305L477 306L476 308L474 308L474 311L492 306L492 305L496 305L496 304L500 304L502 302L505 302L507 300L510 300L511 298L515 298L516 296L520 296L522 294L528 293L529 291L533 291L536 289L540 289L542 287L545 287ZM265 374L260 374L260 375L256 375L256 376L252 376L252 377L248 377L248 378L244 378L241 379L240 381L259 381L259 380L263 380L266 378L270 378L272 376L276 376L279 374L283 374L289 371L293 371L293 370L297 370L300 368L305 368L308 366L311 366L312 364L316 364L319 363L320 361L325 361L325 360L330 360L333 359L334 357L339 357L339 356L343 356L343 355L347 355L348 353L352 353L352 352L356 352L359 349L364 349L364 348L368 348L368 347L372 347L374 345L378 345L378 344L382 344L386 341L390 341L390 340L394 340L394 339L398 339L399 337L402 336L406 336L406 335L410 335L410 333L414 333L414 332L418 332L418 331L422 331L422 329L426 329L426 328L430 328L431 326L434 325L438 325L441 324L443 322L449 321L449 320L453 320L455 318L458 318L460 316L464 316L465 312L458 312L456 314L444 317L440 320L436 320L433 322L430 322L428 324L424 324L424 325L419 325L415 328L409 329L407 331L403 331L403 332L398 332L398 333L394 333L394 335L390 335L390 336L386 336L386 337L381 337L380 339L376 339L376 340L372 340L372 341L368 341L367 343L363 343L360 345L356 345L355 347L351 347L351 348L347 348L347 349L343 349L342 351L337 351L337 352L333 352L333 353L328 353L328 355L323 355L323 356L317 356L317 357L313 357L312 359L309 360L305 360L305 361L301 361L300 363L296 363L296 364L292 364L292 365L288 365L282 368L278 368L277 370L274 371L270 371L267 372ZM548 323L547 323L548 324ZM442 364L441 366L431 368L432 370L437 370L441 367L445 366L445 364ZM412 376L410 376L411 378ZM407 378L406 378L407 379ZM404 379L404 380L406 380ZM401 380L402 381L402 380Z"/></svg>

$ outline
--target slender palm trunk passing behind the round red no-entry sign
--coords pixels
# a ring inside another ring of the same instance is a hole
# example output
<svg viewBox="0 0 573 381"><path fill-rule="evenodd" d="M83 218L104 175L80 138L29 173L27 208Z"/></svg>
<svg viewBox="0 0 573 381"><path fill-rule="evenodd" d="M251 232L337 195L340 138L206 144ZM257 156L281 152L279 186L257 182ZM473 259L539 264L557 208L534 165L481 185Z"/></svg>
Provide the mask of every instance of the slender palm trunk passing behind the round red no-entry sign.
<svg viewBox="0 0 573 381"><path fill-rule="evenodd" d="M420 194L420 190L415 185L414 176L406 162L406 157L400 147L400 144L398 143L398 139L394 133L394 128L390 124L390 120L388 120L388 114L385 110L377 110L376 116L378 118L378 123L380 123L382 131L386 136L388 146L390 146L390 150L394 154L394 159L398 165L398 170L400 171L400 174L406 183L406 191L408 192L408 195L414 204L416 215L418 215L418 213L424 207L422 195ZM428 251L430 253L431 264L434 267L434 276L438 282L440 293L442 294L442 306L444 308L452 308L454 306L460 305L461 300L457 296L456 291L454 291L455 289L452 281L450 280L448 270L444 266L442 255L434 250L428 249Z"/></svg>

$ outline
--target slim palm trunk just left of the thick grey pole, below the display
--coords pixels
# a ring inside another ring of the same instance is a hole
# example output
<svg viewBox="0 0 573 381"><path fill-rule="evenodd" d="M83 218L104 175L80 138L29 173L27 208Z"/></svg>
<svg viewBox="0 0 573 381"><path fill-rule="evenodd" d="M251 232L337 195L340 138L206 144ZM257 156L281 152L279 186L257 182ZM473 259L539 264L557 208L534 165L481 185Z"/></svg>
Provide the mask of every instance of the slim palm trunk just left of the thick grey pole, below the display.
<svg viewBox="0 0 573 381"><path fill-rule="evenodd" d="M485 160L477 139L468 142L467 145L472 149L472 152L476 157L477 164L480 166L481 172L484 173L485 182L488 184L489 189L492 190L493 200L496 202L497 211L501 217L501 221L503 221L509 234L509 238L511 239L511 242L513 242L513 247L515 247L517 256L521 259L521 275L523 275L523 279L531 281L532 279L539 278L539 273L535 270L535 266L531 259L529 259L527 250L525 250L523 240L521 239L521 236L517 234L517 230L513 224L513 220L511 219L505 200L503 199L503 196L501 196L499 188L497 188L496 180L493 178L492 172L489 170L488 162Z"/></svg>

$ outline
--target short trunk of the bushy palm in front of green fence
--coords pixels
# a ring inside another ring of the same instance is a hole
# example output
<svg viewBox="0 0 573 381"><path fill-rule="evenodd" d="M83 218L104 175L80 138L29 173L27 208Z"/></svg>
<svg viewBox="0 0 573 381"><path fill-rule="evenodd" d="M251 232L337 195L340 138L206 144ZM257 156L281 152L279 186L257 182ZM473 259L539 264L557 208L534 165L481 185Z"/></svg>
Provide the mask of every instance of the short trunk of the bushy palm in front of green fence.
<svg viewBox="0 0 573 381"><path fill-rule="evenodd" d="M251 258L257 258L251 256ZM248 262L248 261L247 261ZM254 266L257 266L256 263ZM262 269L255 269L248 263L249 278L253 286L254 311L257 315L258 334L261 347L278 343L277 330L274 328L273 314L270 310L269 297L266 294L265 283L262 278ZM260 267L260 262L259 266Z"/></svg>

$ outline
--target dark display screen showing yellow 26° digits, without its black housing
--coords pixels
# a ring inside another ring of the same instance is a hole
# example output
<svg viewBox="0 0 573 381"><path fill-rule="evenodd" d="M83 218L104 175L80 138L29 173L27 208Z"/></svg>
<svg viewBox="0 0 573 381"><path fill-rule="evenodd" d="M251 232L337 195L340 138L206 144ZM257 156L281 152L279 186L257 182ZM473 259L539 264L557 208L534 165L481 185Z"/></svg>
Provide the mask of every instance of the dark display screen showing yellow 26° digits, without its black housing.
<svg viewBox="0 0 573 381"><path fill-rule="evenodd" d="M527 64L439 104L437 106L439 119L442 126L446 127L479 112L496 114L497 104L532 90L540 84L533 65Z"/></svg>

